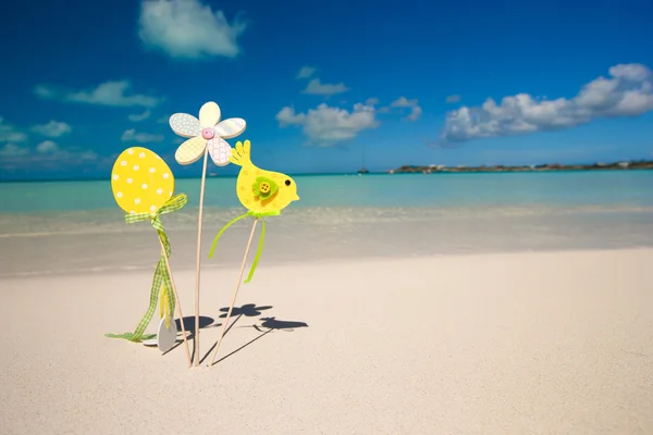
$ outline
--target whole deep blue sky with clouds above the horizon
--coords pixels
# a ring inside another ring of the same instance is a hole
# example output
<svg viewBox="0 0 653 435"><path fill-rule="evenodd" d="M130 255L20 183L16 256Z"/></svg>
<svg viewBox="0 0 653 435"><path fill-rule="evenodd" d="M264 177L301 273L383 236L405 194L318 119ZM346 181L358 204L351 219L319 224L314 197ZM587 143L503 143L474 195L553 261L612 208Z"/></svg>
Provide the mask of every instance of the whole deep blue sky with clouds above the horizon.
<svg viewBox="0 0 653 435"><path fill-rule="evenodd" d="M65 4L65 7L64 7ZM282 4L282 5L280 5ZM649 1L13 2L0 15L0 179L109 177L215 101L255 163L653 158ZM235 174L236 167L210 171Z"/></svg>

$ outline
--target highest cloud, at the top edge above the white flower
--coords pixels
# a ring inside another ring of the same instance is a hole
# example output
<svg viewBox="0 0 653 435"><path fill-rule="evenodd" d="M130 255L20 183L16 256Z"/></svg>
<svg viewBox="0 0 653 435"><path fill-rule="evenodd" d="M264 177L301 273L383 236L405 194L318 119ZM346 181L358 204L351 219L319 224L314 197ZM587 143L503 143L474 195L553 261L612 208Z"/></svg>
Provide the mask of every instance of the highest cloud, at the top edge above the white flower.
<svg viewBox="0 0 653 435"><path fill-rule="evenodd" d="M147 48L177 59L233 58L247 27L238 18L230 24L222 11L199 0L144 0L138 25Z"/></svg>

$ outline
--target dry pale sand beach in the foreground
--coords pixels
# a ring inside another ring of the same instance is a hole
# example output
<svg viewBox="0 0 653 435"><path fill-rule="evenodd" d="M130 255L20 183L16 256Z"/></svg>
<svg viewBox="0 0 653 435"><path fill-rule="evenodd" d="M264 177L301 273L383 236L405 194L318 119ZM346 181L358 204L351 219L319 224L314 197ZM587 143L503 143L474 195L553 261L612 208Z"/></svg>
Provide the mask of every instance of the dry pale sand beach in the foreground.
<svg viewBox="0 0 653 435"><path fill-rule="evenodd" d="M135 327L151 270L3 278L0 433L651 434L652 264L652 249L262 261L236 303L261 309L233 318L212 369L104 337ZM236 278L202 273L202 357ZM192 316L194 271L175 281Z"/></svg>

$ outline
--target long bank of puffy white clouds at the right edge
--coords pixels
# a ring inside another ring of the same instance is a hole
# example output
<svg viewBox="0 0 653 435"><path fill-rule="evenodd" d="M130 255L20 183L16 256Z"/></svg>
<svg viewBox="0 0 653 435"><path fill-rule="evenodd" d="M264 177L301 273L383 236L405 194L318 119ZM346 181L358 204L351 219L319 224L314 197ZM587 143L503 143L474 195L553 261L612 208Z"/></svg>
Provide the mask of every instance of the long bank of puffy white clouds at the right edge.
<svg viewBox="0 0 653 435"><path fill-rule="evenodd" d="M481 107L446 114L441 141L513 136L570 128L601 117L637 116L653 110L653 73L641 64L619 64L609 78L597 77L571 99L549 100L528 94L489 98Z"/></svg>

